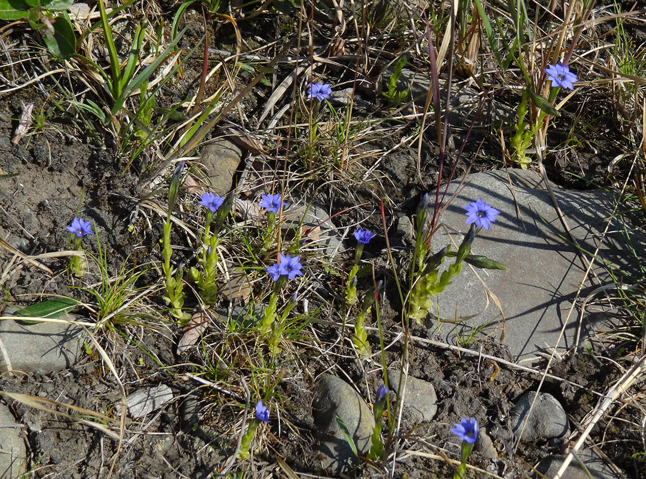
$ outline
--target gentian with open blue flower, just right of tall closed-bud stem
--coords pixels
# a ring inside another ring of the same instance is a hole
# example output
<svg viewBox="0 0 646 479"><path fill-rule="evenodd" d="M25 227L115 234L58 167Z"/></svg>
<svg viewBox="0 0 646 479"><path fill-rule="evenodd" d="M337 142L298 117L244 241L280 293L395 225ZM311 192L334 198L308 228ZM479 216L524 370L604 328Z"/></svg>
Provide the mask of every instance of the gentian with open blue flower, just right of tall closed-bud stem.
<svg viewBox="0 0 646 479"><path fill-rule="evenodd" d="M215 284L216 265L218 264L218 230L222 226L227 211L222 209L215 223L213 223L213 215L220 210L223 203L224 198L213 193L203 193L200 199L200 205L207 208L204 232L202 233L202 251L198 254L200 268L191 267L189 274L200 290L200 296L205 303L214 303L218 292L218 287ZM213 230L211 230L212 225Z"/></svg>

